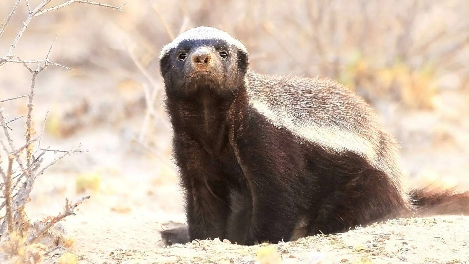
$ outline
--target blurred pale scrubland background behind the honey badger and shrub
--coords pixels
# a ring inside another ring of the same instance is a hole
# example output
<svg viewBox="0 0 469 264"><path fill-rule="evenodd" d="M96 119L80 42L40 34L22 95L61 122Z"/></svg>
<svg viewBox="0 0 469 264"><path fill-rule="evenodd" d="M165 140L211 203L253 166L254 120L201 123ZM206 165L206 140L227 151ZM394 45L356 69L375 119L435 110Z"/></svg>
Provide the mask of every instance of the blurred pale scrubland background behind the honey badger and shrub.
<svg viewBox="0 0 469 264"><path fill-rule="evenodd" d="M14 2L0 3L0 18ZM57 4L61 0L48 7ZM348 85L397 137L408 177L467 185L467 0L129 0L124 10L73 3L34 18L15 48L23 60L43 59L58 33L50 59L74 70L49 66L38 75L35 126L41 130L48 110L42 146L70 149L81 142L89 149L38 179L27 208L31 216L55 214L62 197L89 193L82 214L103 223L184 220L158 56L177 34L199 25L240 39L250 51L251 70L320 75ZM22 3L0 39L0 54L26 17ZM28 93L30 78L19 63L3 65L0 99ZM26 103L23 98L0 107L14 118L26 113ZM18 139L23 121L12 123ZM68 221L87 223L84 218Z"/></svg>

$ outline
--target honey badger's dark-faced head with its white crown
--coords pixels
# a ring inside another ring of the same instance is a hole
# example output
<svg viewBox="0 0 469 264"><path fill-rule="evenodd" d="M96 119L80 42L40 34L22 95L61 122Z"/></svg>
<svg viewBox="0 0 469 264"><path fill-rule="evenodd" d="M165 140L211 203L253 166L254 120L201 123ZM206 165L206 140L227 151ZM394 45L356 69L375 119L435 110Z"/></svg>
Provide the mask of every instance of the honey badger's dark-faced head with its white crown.
<svg viewBox="0 0 469 264"><path fill-rule="evenodd" d="M166 92L178 97L209 92L229 100L244 83L248 56L239 40L219 29L201 26L185 31L159 56Z"/></svg>

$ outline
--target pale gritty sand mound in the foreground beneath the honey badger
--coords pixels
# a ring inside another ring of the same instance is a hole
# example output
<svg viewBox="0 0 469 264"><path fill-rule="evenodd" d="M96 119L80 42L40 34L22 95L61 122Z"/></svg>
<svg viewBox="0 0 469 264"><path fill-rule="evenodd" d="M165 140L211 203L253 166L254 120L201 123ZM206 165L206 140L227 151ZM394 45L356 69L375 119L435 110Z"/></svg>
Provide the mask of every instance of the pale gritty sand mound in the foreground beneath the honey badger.
<svg viewBox="0 0 469 264"><path fill-rule="evenodd" d="M109 263L467 263L468 220L402 218L277 245L196 241L156 250L118 248L96 257L107 257Z"/></svg>

